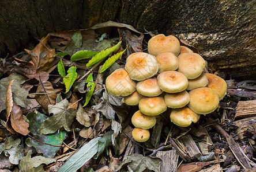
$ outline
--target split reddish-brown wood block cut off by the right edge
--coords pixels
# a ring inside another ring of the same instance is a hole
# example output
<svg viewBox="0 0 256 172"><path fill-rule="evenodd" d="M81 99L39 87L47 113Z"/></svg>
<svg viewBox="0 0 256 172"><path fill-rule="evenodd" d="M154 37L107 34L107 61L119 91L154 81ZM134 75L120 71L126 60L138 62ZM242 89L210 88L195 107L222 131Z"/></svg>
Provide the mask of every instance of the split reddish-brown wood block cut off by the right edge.
<svg viewBox="0 0 256 172"><path fill-rule="evenodd" d="M256 100L239 101L236 106L235 118L256 116Z"/></svg>

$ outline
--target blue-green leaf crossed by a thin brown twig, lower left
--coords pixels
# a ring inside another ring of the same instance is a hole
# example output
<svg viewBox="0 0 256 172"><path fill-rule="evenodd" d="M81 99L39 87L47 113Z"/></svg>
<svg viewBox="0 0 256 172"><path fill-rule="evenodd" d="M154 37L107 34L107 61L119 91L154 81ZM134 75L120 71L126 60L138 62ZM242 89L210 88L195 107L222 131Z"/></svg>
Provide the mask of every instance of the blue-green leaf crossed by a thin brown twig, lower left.
<svg viewBox="0 0 256 172"><path fill-rule="evenodd" d="M36 148L37 153L42 153L46 158L53 158L54 155L59 151L59 148L56 146L61 146L63 140L66 138L66 131L60 130L56 131L54 134L47 134L34 136L35 139L40 140L41 142L52 144L55 146L51 146L48 144L40 143L37 140L28 138L26 143L28 146L33 146Z"/></svg>

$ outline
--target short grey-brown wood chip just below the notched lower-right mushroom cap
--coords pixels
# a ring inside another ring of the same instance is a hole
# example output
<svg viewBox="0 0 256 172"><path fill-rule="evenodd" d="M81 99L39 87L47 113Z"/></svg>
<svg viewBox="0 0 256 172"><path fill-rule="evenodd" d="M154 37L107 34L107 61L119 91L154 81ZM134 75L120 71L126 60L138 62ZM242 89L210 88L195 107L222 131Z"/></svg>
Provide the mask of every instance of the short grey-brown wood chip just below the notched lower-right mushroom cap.
<svg viewBox="0 0 256 172"><path fill-rule="evenodd" d="M195 144L190 134L182 136L182 138L180 138L179 140L186 147L186 150L191 159L197 159L202 155L201 152L199 151L199 148L197 147L197 144Z"/></svg>

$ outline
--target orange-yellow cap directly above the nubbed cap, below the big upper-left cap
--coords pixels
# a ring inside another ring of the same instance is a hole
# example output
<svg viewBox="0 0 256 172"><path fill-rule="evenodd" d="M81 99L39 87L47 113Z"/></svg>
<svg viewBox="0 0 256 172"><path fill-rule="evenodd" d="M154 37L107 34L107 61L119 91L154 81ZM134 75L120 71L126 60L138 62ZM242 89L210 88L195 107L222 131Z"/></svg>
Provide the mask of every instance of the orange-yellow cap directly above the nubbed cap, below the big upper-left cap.
<svg viewBox="0 0 256 172"><path fill-rule="evenodd" d="M159 96L163 92L159 88L156 78L150 78L138 82L136 85L136 89L141 95L148 97Z"/></svg>

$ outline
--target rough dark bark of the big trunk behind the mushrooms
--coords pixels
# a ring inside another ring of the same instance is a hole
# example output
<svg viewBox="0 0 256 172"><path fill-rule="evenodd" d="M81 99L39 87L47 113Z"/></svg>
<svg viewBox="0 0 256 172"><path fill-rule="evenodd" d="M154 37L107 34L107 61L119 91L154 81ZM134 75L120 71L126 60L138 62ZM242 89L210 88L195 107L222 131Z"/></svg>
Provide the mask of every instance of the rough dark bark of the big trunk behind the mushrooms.
<svg viewBox="0 0 256 172"><path fill-rule="evenodd" d="M17 53L29 38L84 29L108 20L173 34L199 49L213 69L256 77L256 1L1 1L0 51Z"/></svg>

